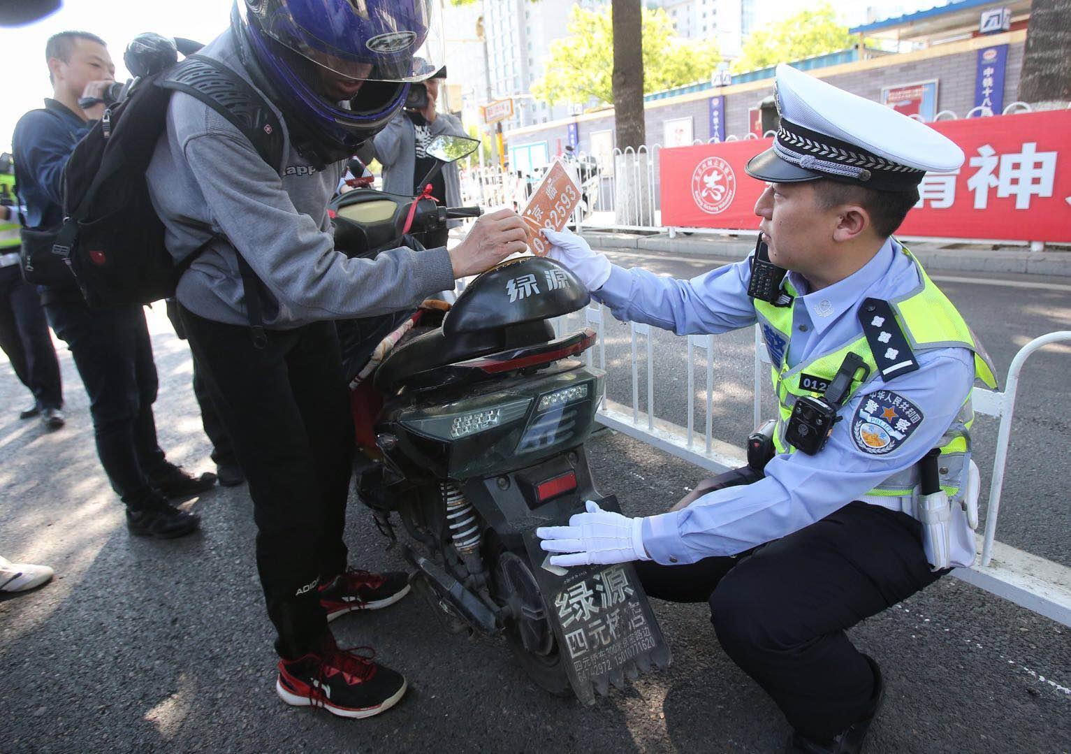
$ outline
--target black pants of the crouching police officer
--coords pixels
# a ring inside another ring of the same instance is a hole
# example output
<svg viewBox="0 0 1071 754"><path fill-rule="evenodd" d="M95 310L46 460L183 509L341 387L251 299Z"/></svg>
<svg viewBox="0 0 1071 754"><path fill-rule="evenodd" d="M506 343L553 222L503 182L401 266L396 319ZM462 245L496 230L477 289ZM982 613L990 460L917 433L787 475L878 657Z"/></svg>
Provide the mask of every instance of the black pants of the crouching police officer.
<svg viewBox="0 0 1071 754"><path fill-rule="evenodd" d="M710 492L757 478L729 471L702 486ZM917 521L863 502L736 557L642 562L636 571L651 597L709 601L726 653L794 728L814 738L859 720L874 691L874 674L845 630L945 573L930 571Z"/></svg>

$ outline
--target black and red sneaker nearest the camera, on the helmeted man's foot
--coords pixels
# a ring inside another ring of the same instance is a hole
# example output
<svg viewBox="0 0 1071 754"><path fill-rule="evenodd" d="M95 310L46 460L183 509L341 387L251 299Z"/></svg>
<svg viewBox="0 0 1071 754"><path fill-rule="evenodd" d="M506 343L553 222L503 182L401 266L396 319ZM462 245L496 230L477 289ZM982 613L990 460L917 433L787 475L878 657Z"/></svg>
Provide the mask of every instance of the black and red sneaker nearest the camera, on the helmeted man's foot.
<svg viewBox="0 0 1071 754"><path fill-rule="evenodd" d="M371 718L390 709L405 695L405 677L356 650L340 649L334 639L319 652L278 661L275 693L295 707L322 707L340 718Z"/></svg>

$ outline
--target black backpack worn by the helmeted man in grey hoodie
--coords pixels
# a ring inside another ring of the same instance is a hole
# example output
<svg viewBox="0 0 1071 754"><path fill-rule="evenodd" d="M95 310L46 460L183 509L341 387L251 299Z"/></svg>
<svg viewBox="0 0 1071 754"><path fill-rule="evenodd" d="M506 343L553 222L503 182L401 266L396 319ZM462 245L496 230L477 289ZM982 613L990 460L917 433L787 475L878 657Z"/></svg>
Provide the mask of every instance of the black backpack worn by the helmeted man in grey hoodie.
<svg viewBox="0 0 1071 754"><path fill-rule="evenodd" d="M260 94L223 63L199 55L139 79L130 96L111 106L78 142L64 169L65 220L58 253L90 306L146 304L175 293L179 276L197 254L176 263L164 245L164 224L149 198L146 170L166 130L174 91L185 92L230 121L274 170L283 131ZM241 254L250 322L260 329L258 289Z"/></svg>

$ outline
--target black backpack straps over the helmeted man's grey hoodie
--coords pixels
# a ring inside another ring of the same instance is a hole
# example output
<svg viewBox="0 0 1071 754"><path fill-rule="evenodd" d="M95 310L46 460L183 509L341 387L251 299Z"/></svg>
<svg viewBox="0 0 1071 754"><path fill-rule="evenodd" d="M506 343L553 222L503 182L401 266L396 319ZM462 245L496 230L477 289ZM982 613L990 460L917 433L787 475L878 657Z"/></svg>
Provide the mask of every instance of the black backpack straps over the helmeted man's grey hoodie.
<svg viewBox="0 0 1071 754"><path fill-rule="evenodd" d="M278 118L263 96L232 70L212 58L191 55L157 81L157 86L183 92L203 102L238 129L273 170L280 170L283 162L283 130ZM186 263L192 263L193 257L203 251L211 239L191 254ZM241 252L235 248L235 254L245 291L245 308L250 317L250 329L253 331L253 345L258 349L263 348L268 343L259 296L263 284Z"/></svg>

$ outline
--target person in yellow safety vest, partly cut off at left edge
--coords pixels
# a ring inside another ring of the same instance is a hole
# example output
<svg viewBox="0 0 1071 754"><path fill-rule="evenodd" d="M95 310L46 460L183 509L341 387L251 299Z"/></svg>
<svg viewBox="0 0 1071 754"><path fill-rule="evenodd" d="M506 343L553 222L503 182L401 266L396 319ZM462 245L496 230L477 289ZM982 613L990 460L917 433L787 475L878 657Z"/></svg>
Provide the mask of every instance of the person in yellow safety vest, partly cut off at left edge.
<svg viewBox="0 0 1071 754"><path fill-rule="evenodd" d="M33 393L20 419L40 416L49 429L63 426L63 386L56 347L37 289L18 267L18 200L11 155L0 154L0 348L15 375Z"/></svg>

